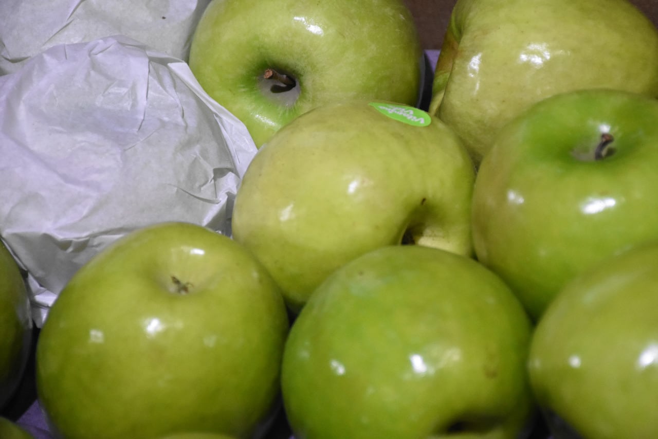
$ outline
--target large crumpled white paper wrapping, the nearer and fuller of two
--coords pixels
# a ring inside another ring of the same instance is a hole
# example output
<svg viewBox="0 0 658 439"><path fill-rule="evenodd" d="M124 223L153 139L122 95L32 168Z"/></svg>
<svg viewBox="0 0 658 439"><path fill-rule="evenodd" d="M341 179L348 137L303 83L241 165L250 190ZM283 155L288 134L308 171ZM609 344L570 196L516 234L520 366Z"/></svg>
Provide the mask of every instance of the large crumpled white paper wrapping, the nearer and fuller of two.
<svg viewBox="0 0 658 439"><path fill-rule="evenodd" d="M57 45L0 76L0 236L38 326L86 261L179 220L230 234L256 147L188 65L115 36Z"/></svg>

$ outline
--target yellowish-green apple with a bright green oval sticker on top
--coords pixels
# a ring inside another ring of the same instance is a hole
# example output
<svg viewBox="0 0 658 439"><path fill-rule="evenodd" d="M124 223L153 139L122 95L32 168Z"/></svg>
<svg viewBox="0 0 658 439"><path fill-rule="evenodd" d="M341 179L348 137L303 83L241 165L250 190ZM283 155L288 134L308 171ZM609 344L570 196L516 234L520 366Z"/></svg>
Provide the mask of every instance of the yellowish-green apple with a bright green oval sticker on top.
<svg viewBox="0 0 658 439"><path fill-rule="evenodd" d="M299 116L259 149L238 189L234 238L293 312L332 271L382 245L472 255L474 167L437 118L345 101Z"/></svg>

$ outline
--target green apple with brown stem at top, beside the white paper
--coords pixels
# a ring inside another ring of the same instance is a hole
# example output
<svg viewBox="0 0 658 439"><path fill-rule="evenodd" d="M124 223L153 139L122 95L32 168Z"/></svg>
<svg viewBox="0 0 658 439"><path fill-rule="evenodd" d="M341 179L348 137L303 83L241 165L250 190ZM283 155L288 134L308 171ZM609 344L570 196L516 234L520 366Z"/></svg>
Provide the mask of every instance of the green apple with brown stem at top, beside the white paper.
<svg viewBox="0 0 658 439"><path fill-rule="evenodd" d="M401 0L213 0L190 49L201 86L258 147L323 103L416 105L422 60L414 18Z"/></svg>

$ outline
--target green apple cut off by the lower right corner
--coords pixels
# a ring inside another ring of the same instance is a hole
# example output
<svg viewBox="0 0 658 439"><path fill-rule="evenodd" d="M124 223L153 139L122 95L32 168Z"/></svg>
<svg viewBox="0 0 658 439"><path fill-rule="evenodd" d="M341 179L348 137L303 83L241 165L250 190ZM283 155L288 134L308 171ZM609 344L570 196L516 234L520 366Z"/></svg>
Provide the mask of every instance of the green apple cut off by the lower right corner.
<svg viewBox="0 0 658 439"><path fill-rule="evenodd" d="M658 438L657 293L658 242L647 242L605 258L555 297L528 362L549 426L584 439Z"/></svg>

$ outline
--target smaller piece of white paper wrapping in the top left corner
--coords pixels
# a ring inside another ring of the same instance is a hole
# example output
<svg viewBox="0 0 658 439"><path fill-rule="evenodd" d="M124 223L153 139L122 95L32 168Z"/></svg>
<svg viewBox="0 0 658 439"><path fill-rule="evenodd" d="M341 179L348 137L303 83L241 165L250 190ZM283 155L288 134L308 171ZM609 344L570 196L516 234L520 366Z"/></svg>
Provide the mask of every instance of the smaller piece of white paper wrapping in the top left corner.
<svg viewBox="0 0 658 439"><path fill-rule="evenodd" d="M0 0L0 74L48 47L112 35L187 61L210 0Z"/></svg>

